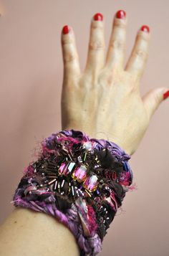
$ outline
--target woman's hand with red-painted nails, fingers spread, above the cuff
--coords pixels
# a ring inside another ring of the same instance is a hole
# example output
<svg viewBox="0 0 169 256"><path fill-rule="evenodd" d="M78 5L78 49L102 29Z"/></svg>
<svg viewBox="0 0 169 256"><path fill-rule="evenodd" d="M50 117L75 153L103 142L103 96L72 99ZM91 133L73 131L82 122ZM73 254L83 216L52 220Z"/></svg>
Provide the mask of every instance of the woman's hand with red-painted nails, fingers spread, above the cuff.
<svg viewBox="0 0 169 256"><path fill-rule="evenodd" d="M168 88L158 87L141 97L140 78L148 60L150 29L148 26L139 29L124 68L126 24L125 11L117 11L105 60L104 20L102 14L95 14L83 73L72 27L64 26L62 130L73 128L84 131L90 138L105 138L132 154L165 98L163 94L168 95Z"/></svg>

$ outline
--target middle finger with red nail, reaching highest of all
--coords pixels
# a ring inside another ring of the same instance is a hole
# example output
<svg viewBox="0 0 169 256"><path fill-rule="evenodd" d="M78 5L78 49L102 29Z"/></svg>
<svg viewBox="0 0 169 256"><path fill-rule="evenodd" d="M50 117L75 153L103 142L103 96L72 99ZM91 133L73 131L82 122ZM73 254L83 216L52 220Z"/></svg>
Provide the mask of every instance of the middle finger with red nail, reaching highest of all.
<svg viewBox="0 0 169 256"><path fill-rule="evenodd" d="M115 67L115 65L120 65L121 67L124 65L126 24L127 18L125 11L117 11L112 25L112 34L106 57L106 66L110 67L110 69Z"/></svg>

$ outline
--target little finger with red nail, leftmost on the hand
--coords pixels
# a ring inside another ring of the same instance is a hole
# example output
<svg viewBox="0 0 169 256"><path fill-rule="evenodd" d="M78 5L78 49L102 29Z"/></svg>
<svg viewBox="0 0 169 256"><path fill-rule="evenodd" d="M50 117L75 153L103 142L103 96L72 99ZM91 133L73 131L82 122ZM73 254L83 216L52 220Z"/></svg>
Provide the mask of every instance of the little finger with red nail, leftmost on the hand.
<svg viewBox="0 0 169 256"><path fill-rule="evenodd" d="M62 57L64 62L64 78L76 79L80 75L79 56L72 27L64 26L62 29Z"/></svg>

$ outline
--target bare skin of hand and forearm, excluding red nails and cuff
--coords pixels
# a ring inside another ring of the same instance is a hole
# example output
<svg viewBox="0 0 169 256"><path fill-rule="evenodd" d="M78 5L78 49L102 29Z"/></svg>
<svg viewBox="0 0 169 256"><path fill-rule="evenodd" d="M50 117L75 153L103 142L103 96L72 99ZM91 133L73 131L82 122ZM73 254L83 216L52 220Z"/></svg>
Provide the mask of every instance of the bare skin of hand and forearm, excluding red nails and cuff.
<svg viewBox="0 0 169 256"><path fill-rule="evenodd" d="M124 68L126 25L127 18L114 17L105 60L104 20L92 19L84 72L79 68L72 27L69 34L62 34L62 130L74 128L92 138L108 139L133 154L168 87L153 88L141 97L140 79L148 60L150 32L138 30ZM79 255L67 227L29 209L14 209L1 225L0 241L0 255Z"/></svg>

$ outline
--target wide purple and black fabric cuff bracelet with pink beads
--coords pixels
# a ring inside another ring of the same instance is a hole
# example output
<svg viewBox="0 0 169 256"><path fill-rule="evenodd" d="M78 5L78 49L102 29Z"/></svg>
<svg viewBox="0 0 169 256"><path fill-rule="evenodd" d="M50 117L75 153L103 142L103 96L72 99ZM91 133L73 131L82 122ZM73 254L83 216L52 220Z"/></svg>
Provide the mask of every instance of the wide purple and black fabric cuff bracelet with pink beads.
<svg viewBox="0 0 169 256"><path fill-rule="evenodd" d="M81 255L97 255L125 192L133 189L130 155L73 129L52 133L41 145L14 192L14 206L52 215L74 234Z"/></svg>

